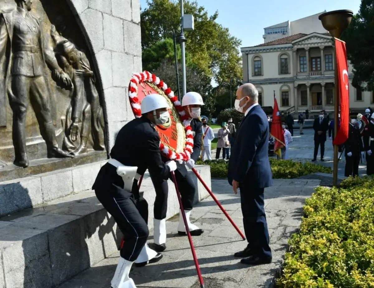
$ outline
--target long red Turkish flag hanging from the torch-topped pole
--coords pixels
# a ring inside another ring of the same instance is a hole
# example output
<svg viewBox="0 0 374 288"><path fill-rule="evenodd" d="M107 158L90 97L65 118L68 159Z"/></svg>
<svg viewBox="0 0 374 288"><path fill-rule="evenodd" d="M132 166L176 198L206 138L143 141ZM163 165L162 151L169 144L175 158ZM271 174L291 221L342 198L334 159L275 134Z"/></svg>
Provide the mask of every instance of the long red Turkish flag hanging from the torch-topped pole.
<svg viewBox="0 0 374 288"><path fill-rule="evenodd" d="M335 38L336 63L338 66L338 83L335 87L339 89L340 97L340 127L334 138L334 145L341 145L348 139L349 127L349 78L346 43ZM337 119L335 119L336 121Z"/></svg>

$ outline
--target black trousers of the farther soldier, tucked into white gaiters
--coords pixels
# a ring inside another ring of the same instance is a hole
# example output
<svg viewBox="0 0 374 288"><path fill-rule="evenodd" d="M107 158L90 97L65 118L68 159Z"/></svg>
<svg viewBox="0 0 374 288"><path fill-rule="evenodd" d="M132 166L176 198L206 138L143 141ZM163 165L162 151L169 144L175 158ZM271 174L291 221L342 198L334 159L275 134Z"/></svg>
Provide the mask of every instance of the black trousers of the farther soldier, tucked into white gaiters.
<svg viewBox="0 0 374 288"><path fill-rule="evenodd" d="M181 193L184 210L192 210L196 188L193 180L187 173L187 169L185 167L184 169L186 170L185 173L181 173L180 168L174 171L175 179L177 180L178 189ZM154 178L152 177L151 172L150 176L156 192L156 199L154 200L153 208L154 218L162 220L166 218L166 211L168 210L168 180ZM173 181L171 175L169 178Z"/></svg>

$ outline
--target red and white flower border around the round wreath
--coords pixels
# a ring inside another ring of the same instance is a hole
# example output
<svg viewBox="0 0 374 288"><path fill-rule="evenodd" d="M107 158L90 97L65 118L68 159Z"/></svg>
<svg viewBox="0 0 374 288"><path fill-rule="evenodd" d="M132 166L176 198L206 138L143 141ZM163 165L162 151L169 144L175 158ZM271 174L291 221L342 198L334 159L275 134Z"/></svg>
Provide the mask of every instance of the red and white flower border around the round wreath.
<svg viewBox="0 0 374 288"><path fill-rule="evenodd" d="M173 103L175 109L179 113L179 118L183 121L184 130L186 132L186 143L184 145L184 151L182 153L177 153L169 148L167 145L164 145L160 141L160 150L161 153L168 157L170 160L178 160L178 161L187 161L190 159L192 148L193 148L193 133L192 128L190 126L191 121L188 119L186 112L184 111L181 102L178 101L177 96L174 95L174 92L166 85L165 82L160 80L159 77L156 75L148 72L143 71L142 73L135 73L129 85L129 99L131 102L131 108L134 112L135 117L141 117L141 106L140 101L138 99L138 85L142 82L150 82L156 85L159 89L162 89L163 92L169 97L170 101Z"/></svg>

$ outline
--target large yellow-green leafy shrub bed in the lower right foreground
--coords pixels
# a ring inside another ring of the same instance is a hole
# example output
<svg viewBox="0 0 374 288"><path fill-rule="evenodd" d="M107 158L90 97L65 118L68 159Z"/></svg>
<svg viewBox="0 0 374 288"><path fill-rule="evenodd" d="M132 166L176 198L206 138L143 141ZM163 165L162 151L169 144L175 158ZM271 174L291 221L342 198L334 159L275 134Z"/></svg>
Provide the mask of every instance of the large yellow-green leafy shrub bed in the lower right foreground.
<svg viewBox="0 0 374 288"><path fill-rule="evenodd" d="M277 287L374 287L373 188L371 177L350 177L340 189L316 189L289 240Z"/></svg>

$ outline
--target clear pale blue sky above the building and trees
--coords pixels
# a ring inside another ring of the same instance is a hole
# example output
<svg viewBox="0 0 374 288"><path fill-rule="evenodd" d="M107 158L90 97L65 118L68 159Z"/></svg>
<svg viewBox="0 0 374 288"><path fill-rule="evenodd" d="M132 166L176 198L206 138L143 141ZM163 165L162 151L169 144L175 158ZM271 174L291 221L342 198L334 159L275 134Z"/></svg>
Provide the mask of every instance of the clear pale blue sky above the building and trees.
<svg viewBox="0 0 374 288"><path fill-rule="evenodd" d="M217 22L242 40L241 47L248 47L264 42L264 27L294 21L324 10L349 9L357 13L361 0L197 0L197 3L204 6L209 14L218 10ZM144 9L146 1L140 0L140 5Z"/></svg>

